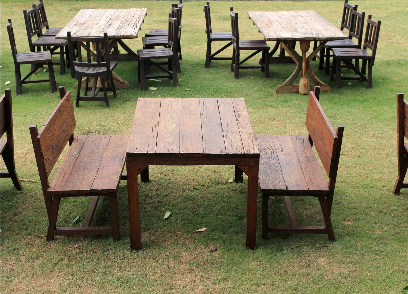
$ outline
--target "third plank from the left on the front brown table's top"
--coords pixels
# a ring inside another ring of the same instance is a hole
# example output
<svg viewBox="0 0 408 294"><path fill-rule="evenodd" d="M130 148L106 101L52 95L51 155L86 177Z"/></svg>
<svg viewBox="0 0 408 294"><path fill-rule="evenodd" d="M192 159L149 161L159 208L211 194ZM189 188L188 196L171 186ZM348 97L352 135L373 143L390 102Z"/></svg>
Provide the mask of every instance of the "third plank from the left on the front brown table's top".
<svg viewBox="0 0 408 294"><path fill-rule="evenodd" d="M203 156L200 100L180 99L180 154Z"/></svg>

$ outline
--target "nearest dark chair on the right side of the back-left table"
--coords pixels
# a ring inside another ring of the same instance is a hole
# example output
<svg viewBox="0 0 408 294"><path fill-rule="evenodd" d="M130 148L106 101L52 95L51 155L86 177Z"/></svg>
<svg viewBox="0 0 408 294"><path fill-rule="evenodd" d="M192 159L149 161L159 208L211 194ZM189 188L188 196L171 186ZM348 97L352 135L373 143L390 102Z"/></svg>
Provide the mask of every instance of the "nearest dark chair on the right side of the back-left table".
<svg viewBox="0 0 408 294"><path fill-rule="evenodd" d="M177 8L178 9L178 8ZM171 17L169 13L169 35L168 35L168 47L167 48L153 48L153 49L142 49L137 50L137 55L139 62L138 66L138 79L142 84L142 91L147 90L146 79L159 79L159 78L170 78L173 79L173 87L178 88L177 79L177 69L180 67L179 64L179 53L177 53L177 35L178 35L178 23L176 18ZM164 68L154 59L167 59L168 69ZM166 72L166 75L147 75L146 63L151 64L159 68L160 70Z"/></svg>

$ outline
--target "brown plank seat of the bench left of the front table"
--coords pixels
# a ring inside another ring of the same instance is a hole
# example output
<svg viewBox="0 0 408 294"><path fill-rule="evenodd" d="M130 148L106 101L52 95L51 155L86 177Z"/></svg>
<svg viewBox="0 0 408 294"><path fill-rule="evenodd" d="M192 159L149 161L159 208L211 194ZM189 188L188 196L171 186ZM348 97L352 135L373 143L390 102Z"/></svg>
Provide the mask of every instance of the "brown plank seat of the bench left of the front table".
<svg viewBox="0 0 408 294"><path fill-rule="evenodd" d="M128 141L128 135L76 136L48 192L115 192L122 176Z"/></svg>

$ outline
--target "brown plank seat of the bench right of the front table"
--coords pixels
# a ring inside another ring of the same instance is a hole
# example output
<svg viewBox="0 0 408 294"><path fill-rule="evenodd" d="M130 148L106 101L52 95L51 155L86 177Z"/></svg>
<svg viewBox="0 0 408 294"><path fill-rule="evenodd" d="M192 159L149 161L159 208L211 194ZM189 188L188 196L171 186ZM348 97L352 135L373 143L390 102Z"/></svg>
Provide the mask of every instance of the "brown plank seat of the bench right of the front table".
<svg viewBox="0 0 408 294"><path fill-rule="evenodd" d="M329 188L307 136L257 135L259 184L270 195L326 195Z"/></svg>

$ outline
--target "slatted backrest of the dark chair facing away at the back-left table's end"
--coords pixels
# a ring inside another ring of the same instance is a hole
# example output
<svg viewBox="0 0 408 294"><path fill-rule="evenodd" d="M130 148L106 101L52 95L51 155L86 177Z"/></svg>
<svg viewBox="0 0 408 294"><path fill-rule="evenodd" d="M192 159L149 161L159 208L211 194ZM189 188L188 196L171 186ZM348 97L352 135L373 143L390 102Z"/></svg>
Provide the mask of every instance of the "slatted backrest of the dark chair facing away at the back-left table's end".
<svg viewBox="0 0 408 294"><path fill-rule="evenodd" d="M104 33L103 37L76 37L71 36L71 32L67 32L69 46L69 62L71 65L71 76L77 79L81 73L75 70L76 67L85 68L106 68L106 78L111 79L111 64L109 60L109 39L108 33ZM75 58L74 42L78 54L78 61ZM91 48L92 46L92 48ZM84 52L82 52L84 51ZM82 54L84 53L84 55ZM84 74L82 74L84 75ZM89 77L100 76L100 74L88 75Z"/></svg>

